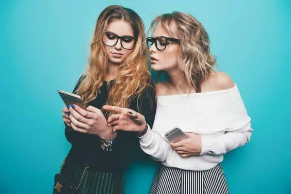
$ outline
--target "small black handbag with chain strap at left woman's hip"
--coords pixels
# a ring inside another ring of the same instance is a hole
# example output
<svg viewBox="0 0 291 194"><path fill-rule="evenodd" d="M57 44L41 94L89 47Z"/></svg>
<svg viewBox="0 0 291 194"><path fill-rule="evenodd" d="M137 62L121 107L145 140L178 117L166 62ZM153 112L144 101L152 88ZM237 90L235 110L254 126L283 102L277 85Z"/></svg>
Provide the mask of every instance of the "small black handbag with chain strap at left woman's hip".
<svg viewBox="0 0 291 194"><path fill-rule="evenodd" d="M87 170L89 169L89 165L86 164L79 181L69 178L69 176L65 176L65 173L62 173L67 158L68 155L62 163L60 173L56 174L54 177L53 194L76 194L80 189Z"/></svg>

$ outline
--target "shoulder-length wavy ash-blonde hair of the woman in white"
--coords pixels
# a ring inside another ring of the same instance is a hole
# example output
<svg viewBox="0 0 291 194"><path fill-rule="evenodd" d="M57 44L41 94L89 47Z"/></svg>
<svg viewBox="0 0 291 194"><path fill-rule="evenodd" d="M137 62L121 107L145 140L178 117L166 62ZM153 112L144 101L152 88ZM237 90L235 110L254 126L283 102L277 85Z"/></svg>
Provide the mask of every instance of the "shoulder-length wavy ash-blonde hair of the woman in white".
<svg viewBox="0 0 291 194"><path fill-rule="evenodd" d="M210 53L208 33L194 16L181 12L156 17L149 32L153 32L158 23L172 37L180 39L178 67L184 73L189 91L194 88L196 92L201 92L201 83L209 78L216 64Z"/></svg>

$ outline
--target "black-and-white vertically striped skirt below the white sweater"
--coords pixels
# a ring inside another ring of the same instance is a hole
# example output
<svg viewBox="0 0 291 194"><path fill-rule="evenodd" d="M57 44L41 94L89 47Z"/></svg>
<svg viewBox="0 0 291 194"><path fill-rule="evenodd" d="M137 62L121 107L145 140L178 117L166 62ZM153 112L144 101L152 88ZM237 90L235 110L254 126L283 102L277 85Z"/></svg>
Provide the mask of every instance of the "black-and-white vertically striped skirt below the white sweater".
<svg viewBox="0 0 291 194"><path fill-rule="evenodd" d="M229 190L220 164L205 171L162 166L150 194L229 194Z"/></svg>

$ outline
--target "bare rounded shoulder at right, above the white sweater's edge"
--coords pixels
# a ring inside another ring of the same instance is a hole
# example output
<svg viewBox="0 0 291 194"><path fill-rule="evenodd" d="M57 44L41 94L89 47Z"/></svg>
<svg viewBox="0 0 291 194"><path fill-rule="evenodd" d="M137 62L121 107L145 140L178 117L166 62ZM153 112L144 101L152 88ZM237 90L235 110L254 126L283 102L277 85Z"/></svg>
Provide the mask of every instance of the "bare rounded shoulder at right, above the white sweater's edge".
<svg viewBox="0 0 291 194"><path fill-rule="evenodd" d="M227 90L233 88L234 82L229 75L224 72L213 72L209 79L205 81L204 88L207 91Z"/></svg>

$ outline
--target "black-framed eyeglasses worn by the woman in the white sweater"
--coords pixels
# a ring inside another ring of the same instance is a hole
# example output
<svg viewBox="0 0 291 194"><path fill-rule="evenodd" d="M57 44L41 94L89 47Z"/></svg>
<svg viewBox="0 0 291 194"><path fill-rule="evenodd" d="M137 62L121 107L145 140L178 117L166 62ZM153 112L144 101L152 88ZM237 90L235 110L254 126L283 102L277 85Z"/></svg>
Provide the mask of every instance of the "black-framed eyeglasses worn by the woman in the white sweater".
<svg viewBox="0 0 291 194"><path fill-rule="evenodd" d="M146 38L147 47L150 48L153 44L155 44L158 50L166 49L167 45L169 44L169 41L180 44L180 39L178 38L169 38L164 36Z"/></svg>

